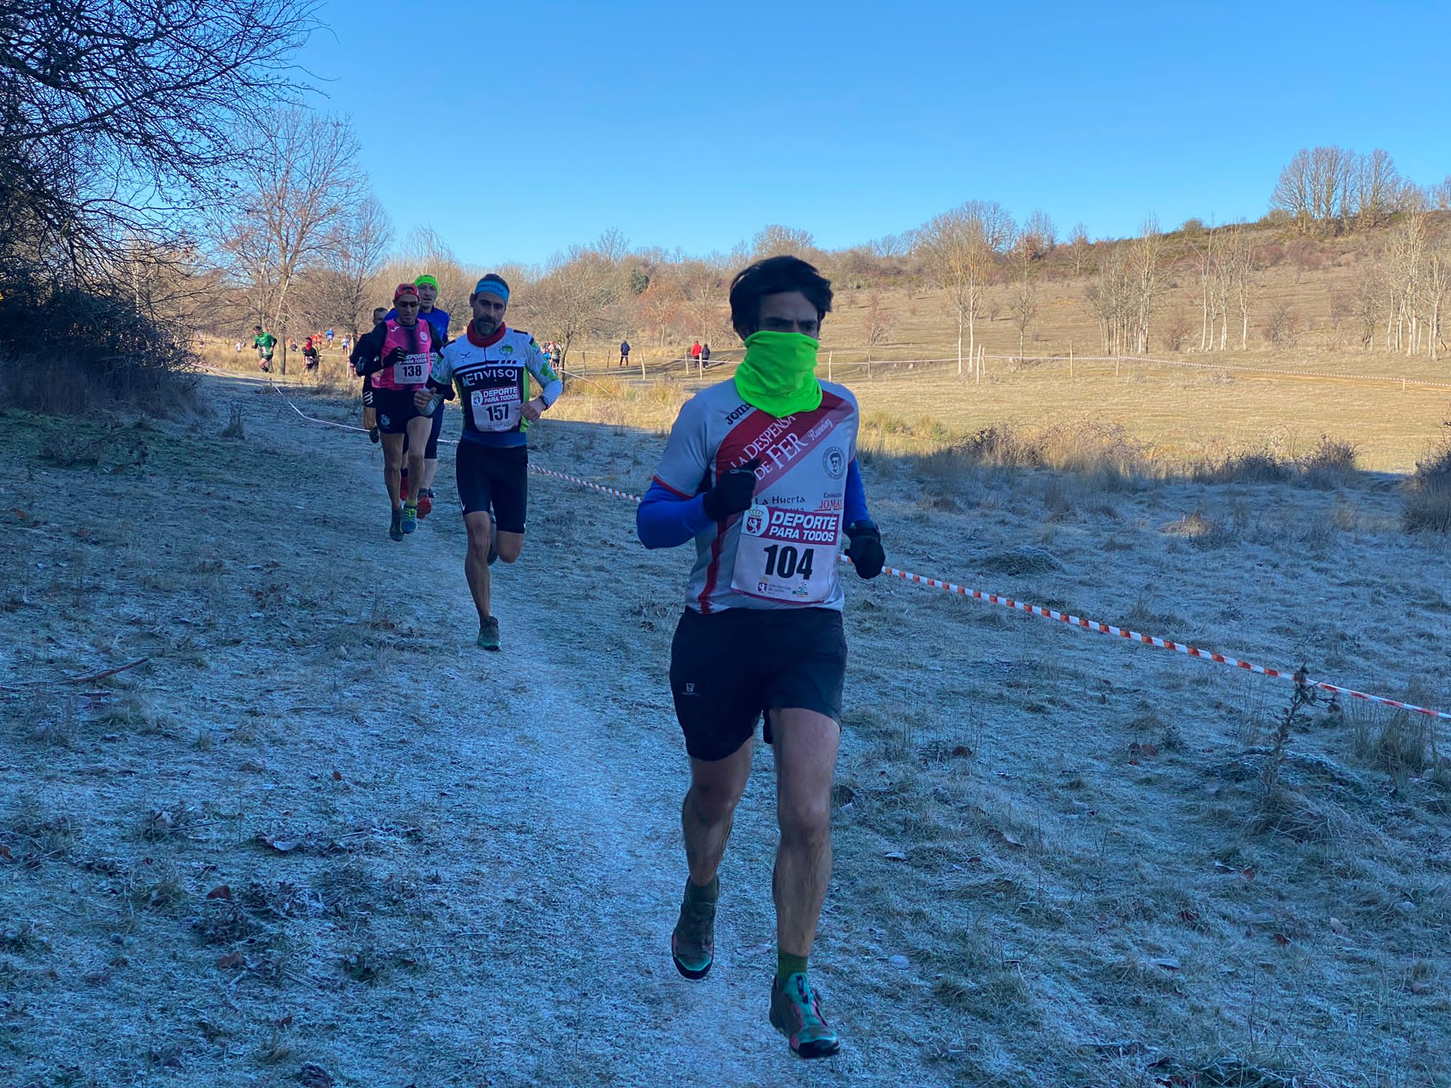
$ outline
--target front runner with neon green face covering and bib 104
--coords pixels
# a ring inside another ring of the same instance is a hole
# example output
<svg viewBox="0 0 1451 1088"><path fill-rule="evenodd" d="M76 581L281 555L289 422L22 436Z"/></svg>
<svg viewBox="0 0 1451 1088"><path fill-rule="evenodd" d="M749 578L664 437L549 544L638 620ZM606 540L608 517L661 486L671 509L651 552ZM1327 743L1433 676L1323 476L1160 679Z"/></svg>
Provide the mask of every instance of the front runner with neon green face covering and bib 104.
<svg viewBox="0 0 1451 1088"><path fill-rule="evenodd" d="M688 979L710 973L717 869L765 714L781 827L770 1023L794 1053L827 1058L840 1042L807 981L807 957L831 878L843 522L860 577L876 577L885 556L856 464L856 397L815 376L830 281L797 257L772 257L736 277L730 309L746 358L731 380L681 409L637 518L647 548L695 541L670 644L670 692L691 757L681 811L689 876L670 956Z"/></svg>

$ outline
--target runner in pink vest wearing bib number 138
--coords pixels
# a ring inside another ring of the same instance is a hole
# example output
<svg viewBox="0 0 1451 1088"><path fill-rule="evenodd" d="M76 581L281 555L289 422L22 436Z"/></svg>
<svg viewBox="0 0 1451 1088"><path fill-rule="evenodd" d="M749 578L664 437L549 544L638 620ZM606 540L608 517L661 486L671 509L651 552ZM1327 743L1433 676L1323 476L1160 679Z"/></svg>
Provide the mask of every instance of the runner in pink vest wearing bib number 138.
<svg viewBox="0 0 1451 1088"><path fill-rule="evenodd" d="M358 337L353 366L358 374L373 376L373 408L377 411L377 428L383 432L383 485L392 505L387 535L390 540L402 540L418 528L418 503L414 499L403 502L400 492L403 435L409 438L408 458L412 461L414 479L421 480L432 419L415 405L414 393L427 392L438 345L432 326L418 319L418 287L411 283L398 284L393 308L398 310L396 319L385 321ZM427 395L424 405L429 405ZM437 405L431 408L438 411Z"/></svg>

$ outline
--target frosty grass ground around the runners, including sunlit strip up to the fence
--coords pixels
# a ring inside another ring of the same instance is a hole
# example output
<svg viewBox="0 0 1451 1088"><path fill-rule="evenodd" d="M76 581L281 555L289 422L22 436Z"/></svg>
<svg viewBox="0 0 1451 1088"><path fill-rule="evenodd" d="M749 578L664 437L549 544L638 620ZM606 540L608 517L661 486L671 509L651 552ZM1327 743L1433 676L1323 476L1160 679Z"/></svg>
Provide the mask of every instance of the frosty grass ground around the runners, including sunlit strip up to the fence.
<svg viewBox="0 0 1451 1088"><path fill-rule="evenodd" d="M1087 392L1052 429L1029 397L1066 386L1046 370L932 380L853 382L895 566L1451 705L1448 543L1403 532L1397 477L1288 450L1196 471L1167 424L1106 431ZM286 392L355 422L337 384ZM1126 415L1172 400L1225 450L1267 437L1194 405L1283 392L1287 422L1326 413L1303 441L1384 467L1438 422L1357 431L1322 384L1081 386ZM686 392L573 382L537 464L643 490ZM846 1049L807 1068L765 1023L766 750L720 968L691 985L666 959L688 557L640 548L627 503L535 479L498 576L506 648L482 657L451 503L392 544L377 447L254 380L203 397L0 429L4 1084L1451 1084L1444 722L1294 709L1283 680L850 582L813 960Z"/></svg>

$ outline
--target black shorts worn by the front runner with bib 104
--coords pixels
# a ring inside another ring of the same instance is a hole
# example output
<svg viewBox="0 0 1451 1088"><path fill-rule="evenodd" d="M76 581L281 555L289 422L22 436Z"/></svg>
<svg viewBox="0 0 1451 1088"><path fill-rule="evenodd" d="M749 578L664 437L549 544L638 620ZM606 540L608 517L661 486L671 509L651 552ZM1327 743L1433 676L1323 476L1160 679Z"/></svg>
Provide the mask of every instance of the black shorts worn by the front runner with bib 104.
<svg viewBox="0 0 1451 1088"><path fill-rule="evenodd" d="M846 635L833 608L686 609L670 643L670 693L692 759L726 759L772 709L840 722L844 679Z"/></svg>

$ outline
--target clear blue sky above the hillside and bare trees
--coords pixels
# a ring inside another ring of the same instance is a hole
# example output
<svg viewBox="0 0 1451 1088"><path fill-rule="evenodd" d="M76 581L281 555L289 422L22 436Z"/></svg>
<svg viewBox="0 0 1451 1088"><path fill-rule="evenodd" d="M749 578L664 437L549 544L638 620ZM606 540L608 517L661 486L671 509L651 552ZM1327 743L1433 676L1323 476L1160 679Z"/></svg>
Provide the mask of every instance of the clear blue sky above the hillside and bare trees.
<svg viewBox="0 0 1451 1088"><path fill-rule="evenodd" d="M1451 174L1451 3L325 0L305 62L399 235L830 248L968 199L1066 234L1265 212L1300 147ZM444 141L441 165L419 136Z"/></svg>

